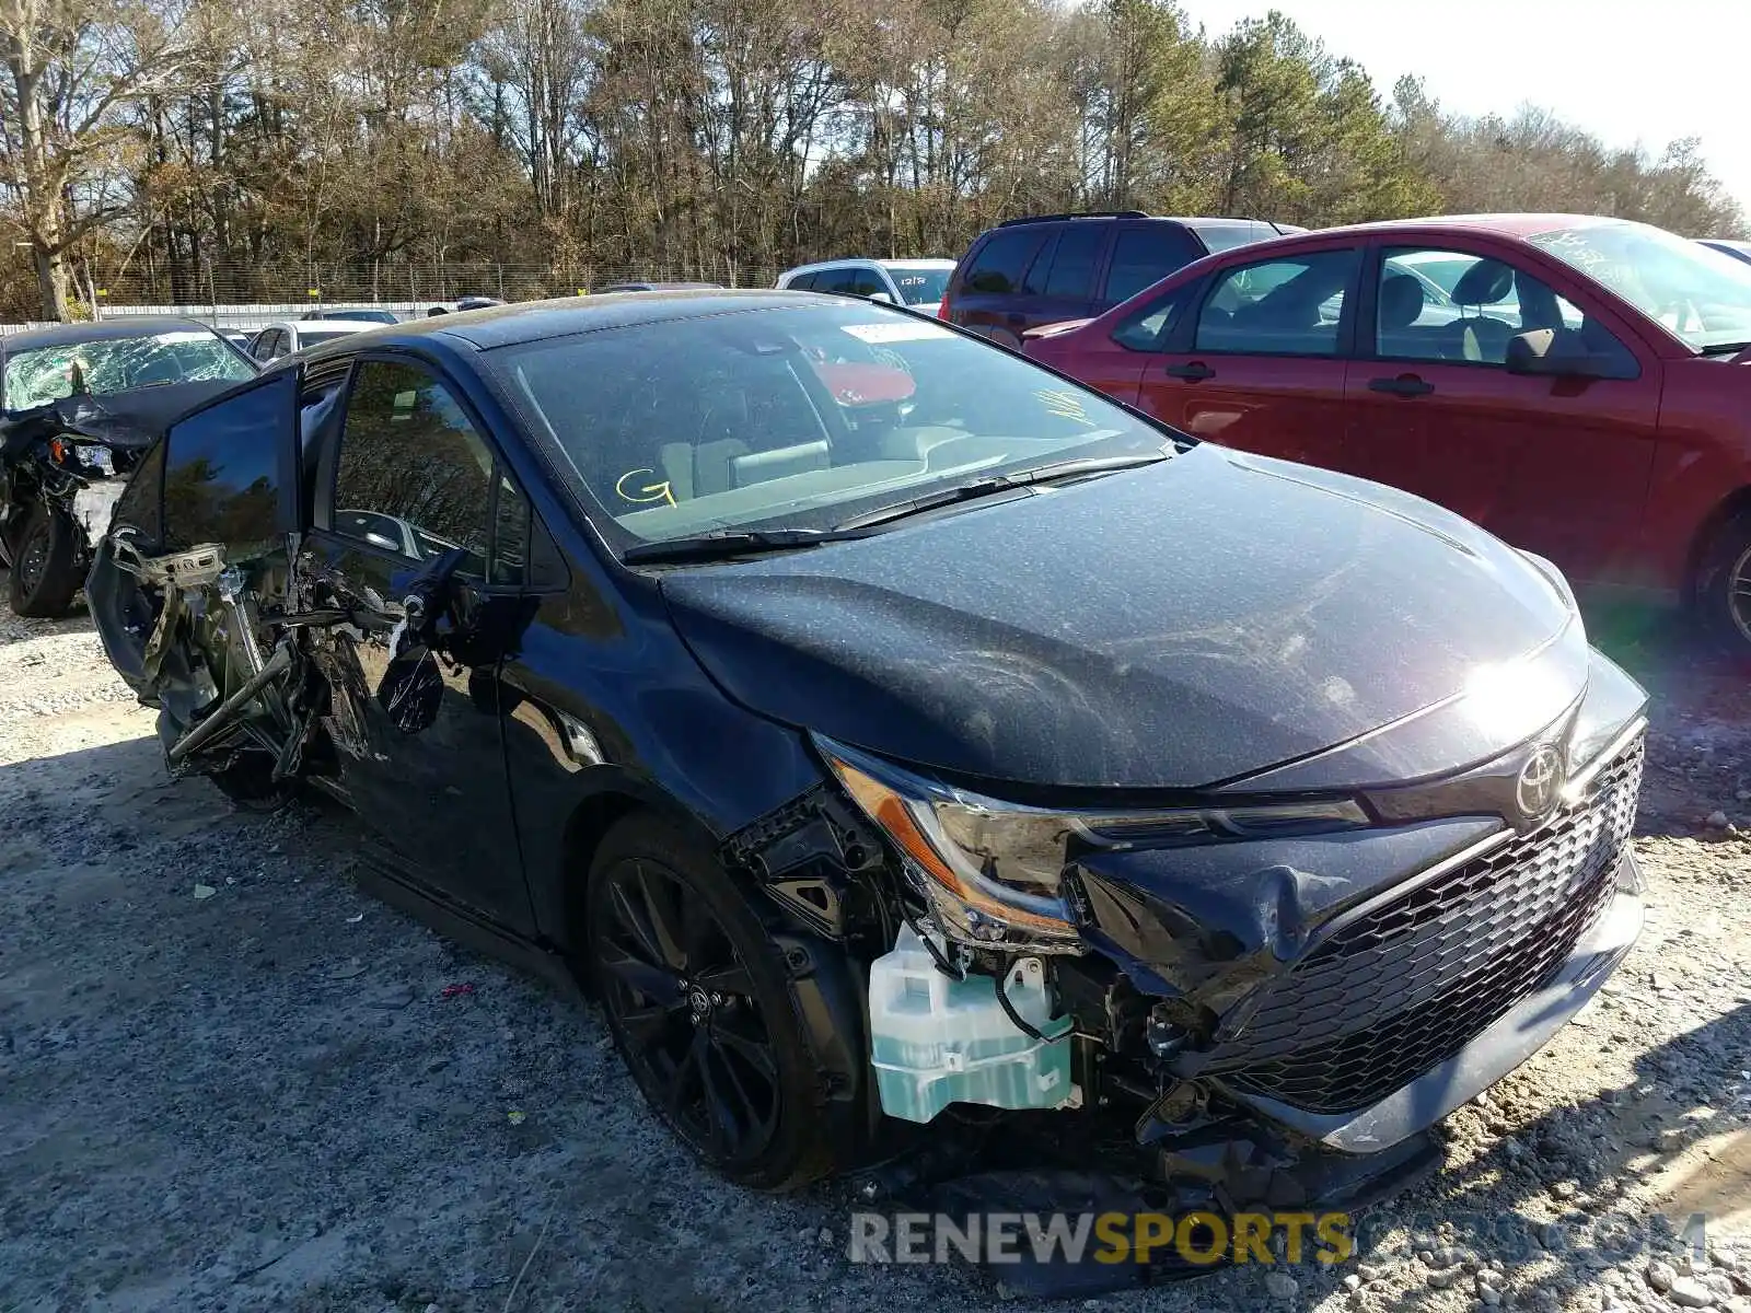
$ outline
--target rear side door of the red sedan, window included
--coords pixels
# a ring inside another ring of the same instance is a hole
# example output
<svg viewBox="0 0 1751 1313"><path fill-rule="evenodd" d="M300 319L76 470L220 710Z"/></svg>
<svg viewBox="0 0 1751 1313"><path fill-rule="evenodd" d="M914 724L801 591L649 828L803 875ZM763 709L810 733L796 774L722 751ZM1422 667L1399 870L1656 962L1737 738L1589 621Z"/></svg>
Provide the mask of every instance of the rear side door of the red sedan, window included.
<svg viewBox="0 0 1751 1313"><path fill-rule="evenodd" d="M1341 469L1361 268L1357 247L1222 266L1196 284L1196 317L1145 368L1138 404L1196 438Z"/></svg>

